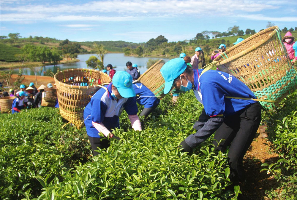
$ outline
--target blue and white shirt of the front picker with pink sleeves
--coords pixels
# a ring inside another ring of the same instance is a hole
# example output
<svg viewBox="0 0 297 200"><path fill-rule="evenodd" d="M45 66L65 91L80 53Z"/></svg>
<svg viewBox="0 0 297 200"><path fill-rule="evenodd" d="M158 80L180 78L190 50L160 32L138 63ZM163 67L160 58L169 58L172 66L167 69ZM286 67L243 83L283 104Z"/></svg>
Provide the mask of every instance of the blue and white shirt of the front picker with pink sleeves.
<svg viewBox="0 0 297 200"><path fill-rule="evenodd" d="M97 129L92 125L92 121L101 123L111 131L119 128L119 116L125 110L128 115L136 115L138 108L135 97L122 98L116 101L111 96L111 83L107 86L108 92L101 88L92 97L83 112L84 123L87 134L91 137L100 137Z"/></svg>

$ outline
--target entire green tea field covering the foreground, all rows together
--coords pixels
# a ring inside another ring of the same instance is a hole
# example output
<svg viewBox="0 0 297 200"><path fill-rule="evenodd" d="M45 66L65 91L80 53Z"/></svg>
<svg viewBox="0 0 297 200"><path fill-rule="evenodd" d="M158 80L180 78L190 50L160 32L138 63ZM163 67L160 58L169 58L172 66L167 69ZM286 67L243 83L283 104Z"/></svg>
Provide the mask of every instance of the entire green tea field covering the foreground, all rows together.
<svg viewBox="0 0 297 200"><path fill-rule="evenodd" d="M288 199L297 191L296 97L290 95L263 118L271 151L282 157L263 164L263 170L274 173ZM177 148L195 132L202 108L192 92L177 105L167 95L142 119L141 132L131 129L123 112L121 129L115 130L122 139L97 157L90 155L86 129L61 129L67 121L55 108L0 114L0 199L238 199L240 187L230 187L227 156L213 152L211 138L191 156Z"/></svg>

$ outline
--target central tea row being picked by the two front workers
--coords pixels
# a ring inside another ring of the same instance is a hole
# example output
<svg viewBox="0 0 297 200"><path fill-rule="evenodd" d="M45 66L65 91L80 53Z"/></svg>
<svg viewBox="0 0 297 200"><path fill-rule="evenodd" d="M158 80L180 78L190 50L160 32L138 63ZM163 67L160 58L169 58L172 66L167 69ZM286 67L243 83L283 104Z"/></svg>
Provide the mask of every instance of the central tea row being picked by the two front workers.
<svg viewBox="0 0 297 200"><path fill-rule="evenodd" d="M166 96L141 132L131 130L122 113L121 129L115 130L122 139L91 161L62 170L61 179L36 176L44 187L38 199L236 199L239 186L226 189L227 157L213 152L211 138L191 156L177 148L195 132L202 110L190 92L179 102L171 107Z"/></svg>

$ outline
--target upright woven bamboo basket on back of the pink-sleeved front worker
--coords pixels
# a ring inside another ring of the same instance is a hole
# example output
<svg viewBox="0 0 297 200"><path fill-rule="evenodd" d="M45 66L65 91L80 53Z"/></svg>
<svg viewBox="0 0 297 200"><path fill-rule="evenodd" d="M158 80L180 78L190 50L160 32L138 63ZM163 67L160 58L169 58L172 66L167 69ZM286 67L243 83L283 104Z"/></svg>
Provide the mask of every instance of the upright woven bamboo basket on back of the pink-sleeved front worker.
<svg viewBox="0 0 297 200"><path fill-rule="evenodd" d="M110 83L110 77L93 69L70 69L54 76L61 116L78 129L84 126L83 110L94 93L97 84Z"/></svg>

